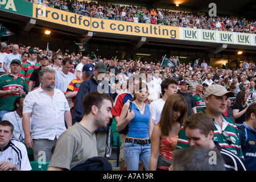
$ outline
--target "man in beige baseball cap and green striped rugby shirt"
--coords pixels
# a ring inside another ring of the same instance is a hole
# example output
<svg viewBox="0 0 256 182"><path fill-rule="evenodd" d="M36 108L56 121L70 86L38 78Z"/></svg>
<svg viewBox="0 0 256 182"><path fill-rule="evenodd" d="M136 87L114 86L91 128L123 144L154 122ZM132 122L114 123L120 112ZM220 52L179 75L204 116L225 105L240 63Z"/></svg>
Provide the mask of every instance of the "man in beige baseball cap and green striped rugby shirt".
<svg viewBox="0 0 256 182"><path fill-rule="evenodd" d="M218 142L221 147L227 148L234 154L242 157L241 141L238 136L237 126L224 115L229 97L234 97L234 93L228 92L224 86L219 84L208 86L204 94L206 107L202 112L207 113L213 119L214 141ZM185 132L181 129L177 149L185 147L189 147L189 145Z"/></svg>

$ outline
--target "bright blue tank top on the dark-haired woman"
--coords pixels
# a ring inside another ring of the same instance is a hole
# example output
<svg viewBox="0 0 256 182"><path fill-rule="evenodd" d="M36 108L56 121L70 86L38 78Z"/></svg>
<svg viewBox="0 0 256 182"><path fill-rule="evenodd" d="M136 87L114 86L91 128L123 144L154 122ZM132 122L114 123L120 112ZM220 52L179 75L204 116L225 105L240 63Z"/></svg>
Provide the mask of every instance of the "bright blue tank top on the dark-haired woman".
<svg viewBox="0 0 256 182"><path fill-rule="evenodd" d="M126 134L127 137L133 138L148 138L148 122L150 121L150 107L145 104L144 114L141 114L138 107L133 103L131 110L134 111L135 117L129 122L129 130Z"/></svg>

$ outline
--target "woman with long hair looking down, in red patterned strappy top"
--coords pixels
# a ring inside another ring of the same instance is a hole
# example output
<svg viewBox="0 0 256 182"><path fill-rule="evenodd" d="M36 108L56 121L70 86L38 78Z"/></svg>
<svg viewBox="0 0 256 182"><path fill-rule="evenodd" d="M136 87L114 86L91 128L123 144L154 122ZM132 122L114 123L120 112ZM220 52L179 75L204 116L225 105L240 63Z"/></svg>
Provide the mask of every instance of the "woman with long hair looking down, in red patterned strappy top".
<svg viewBox="0 0 256 182"><path fill-rule="evenodd" d="M164 104L160 121L151 135L150 171L168 170L176 150L180 127L187 118L188 105L180 94L173 94Z"/></svg>

